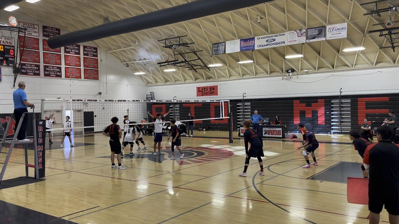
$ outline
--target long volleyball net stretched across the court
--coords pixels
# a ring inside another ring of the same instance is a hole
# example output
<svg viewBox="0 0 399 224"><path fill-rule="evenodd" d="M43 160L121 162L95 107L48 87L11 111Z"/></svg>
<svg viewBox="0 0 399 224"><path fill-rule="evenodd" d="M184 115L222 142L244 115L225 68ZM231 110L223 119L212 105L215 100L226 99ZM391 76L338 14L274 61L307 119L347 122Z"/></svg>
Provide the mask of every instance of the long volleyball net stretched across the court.
<svg viewBox="0 0 399 224"><path fill-rule="evenodd" d="M189 118L189 113L194 119ZM152 117L157 114L164 116L163 125L168 128L170 119L174 118L179 124L188 126L194 123L195 130L226 131L223 137L232 141L232 118L229 100L90 100L90 99L42 99L40 117L45 119L53 114L53 136L61 136L65 117L71 121L71 134L87 134L102 132L111 124L111 118L119 118L121 129L129 125L124 124L124 116L130 122L136 122L144 129L143 134L152 134L154 122Z"/></svg>

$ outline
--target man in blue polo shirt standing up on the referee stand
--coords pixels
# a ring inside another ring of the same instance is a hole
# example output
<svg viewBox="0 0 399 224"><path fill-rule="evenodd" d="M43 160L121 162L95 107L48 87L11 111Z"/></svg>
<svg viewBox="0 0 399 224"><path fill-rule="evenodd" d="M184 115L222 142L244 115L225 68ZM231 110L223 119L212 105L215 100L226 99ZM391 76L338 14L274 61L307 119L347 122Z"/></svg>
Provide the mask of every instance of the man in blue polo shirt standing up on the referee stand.
<svg viewBox="0 0 399 224"><path fill-rule="evenodd" d="M18 127L20 123L22 114L28 112L28 106L35 108L35 105L28 102L25 92L25 82L18 83L18 89L12 93L12 98L14 100L14 116L15 116L15 127ZM29 141L26 139L26 126L28 125L28 115L24 117L22 121L20 132L18 132L17 141Z"/></svg>

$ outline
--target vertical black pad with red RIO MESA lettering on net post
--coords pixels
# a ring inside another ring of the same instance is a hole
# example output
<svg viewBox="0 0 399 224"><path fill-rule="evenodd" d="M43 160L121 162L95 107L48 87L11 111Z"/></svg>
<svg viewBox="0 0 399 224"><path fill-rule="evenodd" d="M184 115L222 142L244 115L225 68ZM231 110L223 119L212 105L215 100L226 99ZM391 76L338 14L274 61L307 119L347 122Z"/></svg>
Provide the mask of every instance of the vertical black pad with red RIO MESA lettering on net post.
<svg viewBox="0 0 399 224"><path fill-rule="evenodd" d="M38 151L38 158L36 164L38 164L39 170L39 178L45 177L45 142L46 142L46 121L45 120L36 120L36 144L38 148L35 149ZM36 175L36 173L35 173ZM36 178L36 176L35 176Z"/></svg>

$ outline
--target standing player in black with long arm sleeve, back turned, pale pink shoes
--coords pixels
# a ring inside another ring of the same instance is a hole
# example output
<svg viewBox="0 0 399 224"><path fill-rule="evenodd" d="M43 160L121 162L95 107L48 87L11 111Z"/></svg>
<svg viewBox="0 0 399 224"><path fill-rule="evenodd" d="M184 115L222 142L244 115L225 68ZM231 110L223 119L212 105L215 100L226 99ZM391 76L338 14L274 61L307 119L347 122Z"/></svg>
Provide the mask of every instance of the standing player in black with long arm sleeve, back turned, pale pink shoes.
<svg viewBox="0 0 399 224"><path fill-rule="evenodd" d="M261 157L265 157L263 154L262 148L262 140L261 137L257 134L256 130L251 129L251 121L246 120L243 122L245 132L244 132L244 144L245 144L245 166L244 171L239 173L239 176L246 177L247 176L247 169L249 166L249 159L251 157L255 157L259 161L259 166L261 167L260 175L264 176L265 172L263 171L263 160ZM251 146L248 149L248 142Z"/></svg>

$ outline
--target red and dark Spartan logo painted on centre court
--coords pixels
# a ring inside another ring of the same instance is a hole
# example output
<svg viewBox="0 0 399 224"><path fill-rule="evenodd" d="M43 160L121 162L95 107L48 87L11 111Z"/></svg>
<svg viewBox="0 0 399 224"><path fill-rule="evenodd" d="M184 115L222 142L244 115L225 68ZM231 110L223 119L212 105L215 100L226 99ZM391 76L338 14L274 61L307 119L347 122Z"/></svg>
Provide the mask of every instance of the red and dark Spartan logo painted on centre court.
<svg viewBox="0 0 399 224"><path fill-rule="evenodd" d="M126 149L126 148L125 148ZM172 151L170 151L171 147L162 147L162 152L165 155L152 155L152 150L148 149L145 152L136 152L136 147L133 149L134 156L129 156L128 150L125 150L123 161L133 160L133 159L144 159L147 158L150 161L156 163L162 163L165 160L170 160L172 158ZM193 163L207 163L220 159L226 159L234 155L232 151L227 149L216 149L216 148L208 148L208 147L181 147L184 153L184 159L179 159L180 153L175 148L175 162L179 165L188 165ZM97 158L107 158L109 156L101 156Z"/></svg>

